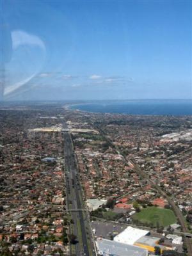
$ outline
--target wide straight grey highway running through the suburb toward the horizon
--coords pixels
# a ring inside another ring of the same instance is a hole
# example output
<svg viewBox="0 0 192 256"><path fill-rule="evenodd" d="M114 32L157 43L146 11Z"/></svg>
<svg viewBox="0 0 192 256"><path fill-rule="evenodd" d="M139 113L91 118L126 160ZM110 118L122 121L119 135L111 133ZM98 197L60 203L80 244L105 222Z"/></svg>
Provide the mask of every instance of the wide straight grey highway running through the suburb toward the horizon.
<svg viewBox="0 0 192 256"><path fill-rule="evenodd" d="M67 186L67 207L70 211L74 224L71 225L70 232L77 237L77 243L74 244L76 255L89 256L88 236L86 232L87 220L84 220L84 206L81 193L81 186L79 184L79 175L77 172L76 159L74 156L72 138L69 131L63 131L64 138L64 157L65 157L65 179ZM91 237L90 237L91 239ZM73 253L70 250L70 253Z"/></svg>

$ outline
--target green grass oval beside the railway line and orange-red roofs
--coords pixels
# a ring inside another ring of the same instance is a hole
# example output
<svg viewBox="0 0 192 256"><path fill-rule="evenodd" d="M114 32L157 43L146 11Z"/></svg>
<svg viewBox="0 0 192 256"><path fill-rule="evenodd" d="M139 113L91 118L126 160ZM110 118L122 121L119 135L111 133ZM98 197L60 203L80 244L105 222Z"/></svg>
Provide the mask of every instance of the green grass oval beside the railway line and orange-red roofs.
<svg viewBox="0 0 192 256"><path fill-rule="evenodd" d="M156 226L158 222L159 225L163 227L177 222L177 218L172 210L155 206L147 207L137 212L132 216L132 220L138 220L141 223L152 223L154 226Z"/></svg>

